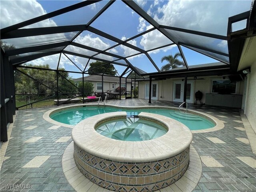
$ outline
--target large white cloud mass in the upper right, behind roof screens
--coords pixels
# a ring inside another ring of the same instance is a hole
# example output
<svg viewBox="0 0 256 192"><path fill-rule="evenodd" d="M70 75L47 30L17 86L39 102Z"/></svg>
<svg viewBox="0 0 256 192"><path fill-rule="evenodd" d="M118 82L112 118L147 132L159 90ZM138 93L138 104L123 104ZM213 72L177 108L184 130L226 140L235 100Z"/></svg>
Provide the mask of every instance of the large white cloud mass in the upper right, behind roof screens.
<svg viewBox="0 0 256 192"><path fill-rule="evenodd" d="M152 1L147 11L159 24L221 35L226 35L228 17L250 9L250 2L248 1L170 0L166 1L164 5L160 4L160 2L162 0ZM140 20L139 22L138 31L145 27L143 22ZM146 29L148 29L148 26L146 26ZM180 34L180 32L177 32L176 37L178 38ZM187 39L192 44L199 40L202 44L204 42L207 43L208 46L215 44L214 39L200 38L200 36L198 38L193 36L193 39L191 39L190 36L186 35L186 38L180 36L179 40L184 41ZM140 45L145 50L149 50L170 43L168 41L168 38L162 33L154 30L142 36ZM226 52L225 42L220 42L217 46ZM166 51L171 48L169 46L161 50ZM157 52L159 50L154 51L154 53Z"/></svg>

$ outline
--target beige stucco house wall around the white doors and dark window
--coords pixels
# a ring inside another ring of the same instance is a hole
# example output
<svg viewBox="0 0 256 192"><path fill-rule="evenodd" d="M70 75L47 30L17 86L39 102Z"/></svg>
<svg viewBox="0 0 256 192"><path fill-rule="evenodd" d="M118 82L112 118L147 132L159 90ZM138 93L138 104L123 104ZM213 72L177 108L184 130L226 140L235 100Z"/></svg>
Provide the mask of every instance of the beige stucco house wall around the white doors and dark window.
<svg viewBox="0 0 256 192"><path fill-rule="evenodd" d="M188 79L192 79L193 77L189 77ZM198 77L204 78L204 80L190 80L194 82L194 94L198 90L203 93L202 102L205 103L205 94L211 92L211 82L212 79L222 79L222 76L204 76ZM172 78L166 80L159 80L159 81L152 81L158 83L158 100L165 100L165 101L173 101L173 83L174 81L182 80L182 78ZM149 83L149 81L140 82L139 84L139 98L145 98L145 84ZM237 82L237 90L236 94L243 94L244 83ZM193 94L192 101L194 102L195 96ZM161 97L162 96L162 97Z"/></svg>

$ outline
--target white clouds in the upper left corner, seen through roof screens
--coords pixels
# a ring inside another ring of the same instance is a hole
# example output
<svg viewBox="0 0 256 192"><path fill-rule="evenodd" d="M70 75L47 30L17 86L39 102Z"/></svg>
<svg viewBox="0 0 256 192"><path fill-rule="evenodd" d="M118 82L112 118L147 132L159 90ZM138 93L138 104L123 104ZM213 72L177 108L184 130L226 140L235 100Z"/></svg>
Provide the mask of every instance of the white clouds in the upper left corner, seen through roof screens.
<svg viewBox="0 0 256 192"><path fill-rule="evenodd" d="M46 14L47 12L42 8L42 6L36 2L36 0L22 0L22 1L7 1L2 0L0 6L1 18L0 24L1 28L5 28L37 16ZM46 19L44 21L26 26L24 28L32 27L45 27L45 26L57 26L56 23L51 19ZM74 35L73 33L70 35ZM31 36L24 38L14 38L4 40L7 44L13 44L17 48L34 46L42 43L52 43L61 42L69 40L70 36L65 36L63 34L52 34L52 35L41 35L41 36Z"/></svg>

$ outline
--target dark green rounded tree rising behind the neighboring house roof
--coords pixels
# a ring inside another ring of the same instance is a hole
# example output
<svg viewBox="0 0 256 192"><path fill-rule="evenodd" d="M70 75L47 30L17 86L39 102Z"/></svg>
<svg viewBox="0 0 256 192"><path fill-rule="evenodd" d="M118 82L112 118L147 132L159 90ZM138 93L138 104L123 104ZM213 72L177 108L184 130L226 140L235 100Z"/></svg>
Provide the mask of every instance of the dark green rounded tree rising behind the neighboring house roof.
<svg viewBox="0 0 256 192"><path fill-rule="evenodd" d="M92 62L90 64L90 67L88 69L88 74L89 75L102 74L102 73L104 73L106 75L115 76L116 75L116 70L115 70L113 65L111 65L111 64L109 65L108 63L101 62L101 61Z"/></svg>

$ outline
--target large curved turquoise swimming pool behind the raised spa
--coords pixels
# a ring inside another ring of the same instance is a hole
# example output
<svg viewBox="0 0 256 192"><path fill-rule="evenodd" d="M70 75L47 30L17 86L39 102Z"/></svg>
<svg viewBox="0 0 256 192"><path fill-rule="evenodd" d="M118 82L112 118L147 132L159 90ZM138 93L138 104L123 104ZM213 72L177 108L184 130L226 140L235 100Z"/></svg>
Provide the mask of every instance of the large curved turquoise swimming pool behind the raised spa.
<svg viewBox="0 0 256 192"><path fill-rule="evenodd" d="M138 115L140 112L148 112L153 114L159 114L167 116L178 120L179 122L185 124L190 130L202 130L207 128L212 128L215 124L202 117L191 113L184 113L177 110L170 110L164 108L145 108L145 109L120 109L114 107L97 107L97 106L86 106L86 107L76 107L66 110L61 110L53 112L50 114L50 118L57 122L61 122L69 125L76 125L80 121L89 118L94 115L104 114L108 112L118 112L125 111L128 115Z"/></svg>

